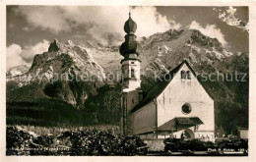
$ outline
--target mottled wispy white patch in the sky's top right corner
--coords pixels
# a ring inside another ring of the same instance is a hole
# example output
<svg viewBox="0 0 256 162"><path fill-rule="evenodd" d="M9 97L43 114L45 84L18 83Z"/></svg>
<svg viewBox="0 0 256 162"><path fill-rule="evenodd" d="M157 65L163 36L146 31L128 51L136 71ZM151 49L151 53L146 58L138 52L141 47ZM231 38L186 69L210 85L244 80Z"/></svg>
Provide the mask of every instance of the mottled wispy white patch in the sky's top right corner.
<svg viewBox="0 0 256 162"><path fill-rule="evenodd" d="M226 9L223 13L219 13L219 19L226 23L228 26L239 27L248 31L248 23L237 19L235 16L236 9L233 7L228 7L228 9Z"/></svg>

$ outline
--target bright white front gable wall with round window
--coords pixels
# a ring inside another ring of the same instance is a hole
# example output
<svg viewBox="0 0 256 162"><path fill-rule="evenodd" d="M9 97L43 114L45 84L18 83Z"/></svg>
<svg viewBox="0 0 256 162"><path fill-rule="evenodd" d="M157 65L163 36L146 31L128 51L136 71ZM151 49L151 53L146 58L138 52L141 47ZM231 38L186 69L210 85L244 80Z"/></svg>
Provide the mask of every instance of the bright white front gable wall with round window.
<svg viewBox="0 0 256 162"><path fill-rule="evenodd" d="M189 71L189 68L184 64L157 98L158 127L175 117L199 117L204 124L199 126L198 132L213 134L214 101L192 73L191 80L181 79L182 70ZM191 113L187 115L181 111L184 103L189 103L192 108Z"/></svg>

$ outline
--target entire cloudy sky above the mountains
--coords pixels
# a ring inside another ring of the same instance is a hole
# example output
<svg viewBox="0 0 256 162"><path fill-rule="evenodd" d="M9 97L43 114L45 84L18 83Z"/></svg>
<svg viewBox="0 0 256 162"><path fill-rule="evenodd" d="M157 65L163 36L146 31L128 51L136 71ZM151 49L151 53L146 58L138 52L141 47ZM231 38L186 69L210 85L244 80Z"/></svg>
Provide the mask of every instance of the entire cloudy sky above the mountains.
<svg viewBox="0 0 256 162"><path fill-rule="evenodd" d="M7 6L7 70L31 66L33 56L47 51L54 38L119 45L129 10L138 39L170 28L195 28L231 52L249 51L247 7Z"/></svg>

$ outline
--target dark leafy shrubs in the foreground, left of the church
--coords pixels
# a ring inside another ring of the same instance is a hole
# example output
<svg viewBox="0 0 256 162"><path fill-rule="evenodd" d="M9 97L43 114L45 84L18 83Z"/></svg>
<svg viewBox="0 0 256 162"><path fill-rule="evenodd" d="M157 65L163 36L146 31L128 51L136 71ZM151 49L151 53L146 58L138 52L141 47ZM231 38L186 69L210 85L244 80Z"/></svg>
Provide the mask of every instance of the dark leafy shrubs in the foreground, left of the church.
<svg viewBox="0 0 256 162"><path fill-rule="evenodd" d="M148 147L138 136L102 131L63 132L35 136L16 127L7 128L7 155L136 155Z"/></svg>

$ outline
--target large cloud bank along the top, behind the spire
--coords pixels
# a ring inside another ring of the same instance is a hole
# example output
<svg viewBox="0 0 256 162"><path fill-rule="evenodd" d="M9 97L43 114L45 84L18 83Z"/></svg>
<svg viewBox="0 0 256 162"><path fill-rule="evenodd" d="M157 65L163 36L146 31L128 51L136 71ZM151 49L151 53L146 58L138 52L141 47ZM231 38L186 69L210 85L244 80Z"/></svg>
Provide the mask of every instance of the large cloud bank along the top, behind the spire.
<svg viewBox="0 0 256 162"><path fill-rule="evenodd" d="M19 7L18 13L26 17L30 27L48 29L53 33L75 31L77 27L92 35L98 42L119 43L125 32L123 26L128 19L128 7ZM137 23L137 36L149 36L169 28L178 29L180 24L167 20L160 15L156 7L135 7L131 11L132 19ZM26 30L29 30L26 27ZM79 35L77 35L79 36Z"/></svg>

